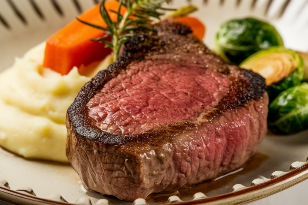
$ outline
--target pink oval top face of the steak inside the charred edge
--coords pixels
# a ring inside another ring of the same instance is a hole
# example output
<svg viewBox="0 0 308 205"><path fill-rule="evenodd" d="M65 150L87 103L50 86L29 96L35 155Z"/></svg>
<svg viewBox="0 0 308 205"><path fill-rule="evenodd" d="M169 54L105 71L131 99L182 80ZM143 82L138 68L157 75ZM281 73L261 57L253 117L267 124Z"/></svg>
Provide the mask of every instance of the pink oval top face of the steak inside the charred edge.
<svg viewBox="0 0 308 205"><path fill-rule="evenodd" d="M205 65L142 61L107 82L87 107L100 129L136 135L196 120L217 105L229 85Z"/></svg>

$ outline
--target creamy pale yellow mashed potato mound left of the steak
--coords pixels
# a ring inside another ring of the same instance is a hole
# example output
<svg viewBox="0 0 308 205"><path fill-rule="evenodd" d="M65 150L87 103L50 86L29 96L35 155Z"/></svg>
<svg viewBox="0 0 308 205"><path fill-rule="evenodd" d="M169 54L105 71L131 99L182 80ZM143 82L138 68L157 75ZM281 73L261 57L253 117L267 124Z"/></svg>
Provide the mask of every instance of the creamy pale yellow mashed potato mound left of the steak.
<svg viewBox="0 0 308 205"><path fill-rule="evenodd" d="M65 116L81 87L91 79L74 68L61 76L43 68L45 43L16 58L0 75L0 146L26 158L68 162ZM107 56L95 69L106 69Z"/></svg>

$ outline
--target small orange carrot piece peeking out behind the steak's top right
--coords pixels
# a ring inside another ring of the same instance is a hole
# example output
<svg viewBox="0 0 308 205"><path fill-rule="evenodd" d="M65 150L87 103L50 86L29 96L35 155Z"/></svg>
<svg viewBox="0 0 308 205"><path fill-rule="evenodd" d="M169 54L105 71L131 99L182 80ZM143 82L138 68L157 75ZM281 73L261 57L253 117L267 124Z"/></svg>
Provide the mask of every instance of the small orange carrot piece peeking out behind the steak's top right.
<svg viewBox="0 0 308 205"><path fill-rule="evenodd" d="M176 22L189 26L193 30L193 35L202 40L205 34L205 26L203 25L203 23L199 21L198 18L191 16L183 16L183 17L176 17L174 19L176 20Z"/></svg>

